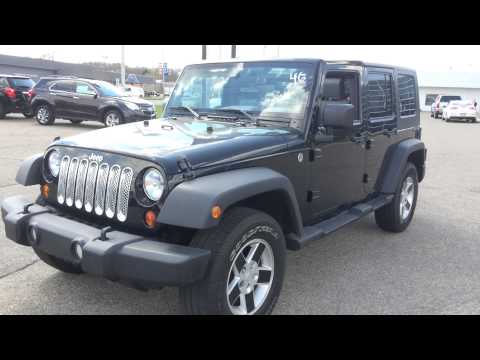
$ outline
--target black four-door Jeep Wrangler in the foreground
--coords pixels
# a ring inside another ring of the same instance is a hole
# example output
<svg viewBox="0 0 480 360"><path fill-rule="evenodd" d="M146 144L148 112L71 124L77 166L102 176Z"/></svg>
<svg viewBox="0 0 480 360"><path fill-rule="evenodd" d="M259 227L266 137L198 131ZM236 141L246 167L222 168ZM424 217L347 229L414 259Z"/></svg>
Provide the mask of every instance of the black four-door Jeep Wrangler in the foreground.
<svg viewBox="0 0 480 360"><path fill-rule="evenodd" d="M318 59L187 66L164 117L54 141L2 204L47 264L180 287L190 314L268 314L286 249L375 212L413 218L425 176L416 74ZM305 250L308 251L308 250Z"/></svg>

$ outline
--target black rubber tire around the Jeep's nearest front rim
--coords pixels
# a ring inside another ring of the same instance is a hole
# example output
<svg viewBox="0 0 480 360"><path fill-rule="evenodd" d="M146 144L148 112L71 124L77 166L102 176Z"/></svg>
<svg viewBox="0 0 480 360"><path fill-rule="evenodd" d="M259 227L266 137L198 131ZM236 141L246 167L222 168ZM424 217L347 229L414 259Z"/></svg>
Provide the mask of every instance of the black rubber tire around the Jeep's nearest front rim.
<svg viewBox="0 0 480 360"><path fill-rule="evenodd" d="M212 257L206 277L202 281L180 288L180 300L187 314L230 315L234 313L230 308L227 296L229 274L233 270L234 261L238 264L238 259L244 259L244 246L248 246L250 241L257 241L257 239L265 241L270 246L268 252L273 254L274 264L273 272L270 275L273 274L273 279L268 277L269 291L262 304L258 304L258 308L250 313L266 315L273 311L285 273L286 250L282 228L275 219L263 212L237 207L226 212L221 223L215 228L199 231L191 242L193 247L209 249ZM234 290L240 289L240 284L241 282L234 287L236 288ZM254 285L253 289L257 291L257 285ZM253 299L253 293L251 292L251 294L251 299ZM244 295L245 304L251 303L246 300L249 295L250 293ZM240 293L238 293L236 299L240 301L240 297ZM247 309L248 307L246 305Z"/></svg>

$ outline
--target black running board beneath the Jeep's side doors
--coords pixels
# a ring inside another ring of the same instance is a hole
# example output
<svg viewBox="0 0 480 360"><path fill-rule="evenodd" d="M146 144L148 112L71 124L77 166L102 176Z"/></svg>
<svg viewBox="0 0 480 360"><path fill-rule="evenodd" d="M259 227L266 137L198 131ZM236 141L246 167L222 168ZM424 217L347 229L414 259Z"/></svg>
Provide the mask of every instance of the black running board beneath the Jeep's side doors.
<svg viewBox="0 0 480 360"><path fill-rule="evenodd" d="M393 195L379 195L372 200L355 205L351 209L343 211L332 218L319 222L318 224L305 226L303 228L302 237L290 233L287 235L288 248L291 250L299 250L310 241L319 240L345 225L351 224L382 206L387 205L392 199Z"/></svg>

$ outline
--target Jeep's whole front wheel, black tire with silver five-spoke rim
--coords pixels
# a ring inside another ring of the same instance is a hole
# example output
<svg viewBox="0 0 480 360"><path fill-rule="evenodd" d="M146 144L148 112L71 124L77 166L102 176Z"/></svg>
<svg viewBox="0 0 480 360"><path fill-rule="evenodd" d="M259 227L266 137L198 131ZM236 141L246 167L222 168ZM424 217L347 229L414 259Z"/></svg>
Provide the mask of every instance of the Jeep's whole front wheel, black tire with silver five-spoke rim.
<svg viewBox="0 0 480 360"><path fill-rule="evenodd" d="M180 289L187 314L266 315L285 272L285 238L271 216L233 208L221 223L198 232L191 246L212 253L206 277Z"/></svg>

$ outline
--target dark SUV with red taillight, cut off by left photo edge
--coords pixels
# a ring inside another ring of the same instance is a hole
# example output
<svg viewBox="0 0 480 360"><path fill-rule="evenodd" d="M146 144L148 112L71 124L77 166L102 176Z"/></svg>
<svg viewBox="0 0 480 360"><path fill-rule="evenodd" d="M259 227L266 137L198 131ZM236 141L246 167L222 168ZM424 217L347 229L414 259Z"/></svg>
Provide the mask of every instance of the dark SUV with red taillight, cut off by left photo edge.
<svg viewBox="0 0 480 360"><path fill-rule="evenodd" d="M31 117L29 99L35 82L26 76L0 74L0 119L8 113Z"/></svg>

